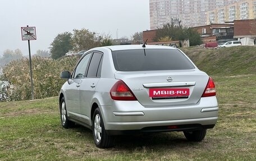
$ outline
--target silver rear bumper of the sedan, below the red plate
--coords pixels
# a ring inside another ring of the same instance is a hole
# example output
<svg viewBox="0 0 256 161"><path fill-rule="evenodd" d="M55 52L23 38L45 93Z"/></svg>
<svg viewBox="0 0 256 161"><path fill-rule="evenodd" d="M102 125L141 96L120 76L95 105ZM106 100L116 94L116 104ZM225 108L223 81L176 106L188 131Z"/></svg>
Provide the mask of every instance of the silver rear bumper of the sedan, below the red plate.
<svg viewBox="0 0 256 161"><path fill-rule="evenodd" d="M218 104L215 96L201 98L196 104L175 107L144 107L138 101L113 101L112 107L104 106L100 107L100 110L107 131L143 131L148 127L178 125L213 128L218 119ZM179 131L179 129L171 131Z"/></svg>

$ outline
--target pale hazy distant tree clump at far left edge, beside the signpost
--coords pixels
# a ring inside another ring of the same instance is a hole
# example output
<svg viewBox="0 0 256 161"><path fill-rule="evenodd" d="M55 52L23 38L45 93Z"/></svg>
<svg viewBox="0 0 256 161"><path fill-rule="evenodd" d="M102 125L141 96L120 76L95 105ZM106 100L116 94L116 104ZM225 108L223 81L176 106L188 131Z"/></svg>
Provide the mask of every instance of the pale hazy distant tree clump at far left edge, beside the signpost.
<svg viewBox="0 0 256 161"><path fill-rule="evenodd" d="M15 61L17 59L22 58L22 53L20 49L16 49L15 51L7 49L3 52L3 56L0 58L0 66L7 65L11 61Z"/></svg>

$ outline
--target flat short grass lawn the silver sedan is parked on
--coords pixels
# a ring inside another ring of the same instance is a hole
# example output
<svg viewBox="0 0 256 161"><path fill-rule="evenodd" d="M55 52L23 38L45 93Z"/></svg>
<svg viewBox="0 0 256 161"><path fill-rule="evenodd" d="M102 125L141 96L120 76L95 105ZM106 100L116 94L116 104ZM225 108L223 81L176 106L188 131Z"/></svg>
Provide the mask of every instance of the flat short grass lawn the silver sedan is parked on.
<svg viewBox="0 0 256 161"><path fill-rule="evenodd" d="M53 97L0 103L0 160L256 160L256 74L216 71L219 119L202 142L167 132L118 136L113 148L98 149L92 131L61 127Z"/></svg>

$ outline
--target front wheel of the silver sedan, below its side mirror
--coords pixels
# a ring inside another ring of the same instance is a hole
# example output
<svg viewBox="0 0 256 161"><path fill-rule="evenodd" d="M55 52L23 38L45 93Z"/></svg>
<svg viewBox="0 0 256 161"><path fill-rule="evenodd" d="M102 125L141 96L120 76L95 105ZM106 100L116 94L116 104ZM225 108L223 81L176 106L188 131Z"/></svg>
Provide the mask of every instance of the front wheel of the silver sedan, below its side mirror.
<svg viewBox="0 0 256 161"><path fill-rule="evenodd" d="M67 109L66 109L66 102L64 97L61 98L61 102L60 102L60 114L61 114L61 125L64 128L70 128L75 125L74 122L70 121L67 118Z"/></svg>

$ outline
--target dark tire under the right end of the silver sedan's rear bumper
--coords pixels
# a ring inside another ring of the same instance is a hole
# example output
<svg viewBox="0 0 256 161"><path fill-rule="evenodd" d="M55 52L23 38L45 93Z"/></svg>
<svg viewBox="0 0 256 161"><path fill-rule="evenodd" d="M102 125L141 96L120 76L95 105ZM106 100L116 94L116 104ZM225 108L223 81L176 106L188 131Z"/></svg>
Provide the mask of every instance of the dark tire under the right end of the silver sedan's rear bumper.
<svg viewBox="0 0 256 161"><path fill-rule="evenodd" d="M189 141L202 141L206 135L207 129L203 128L202 130L195 131L183 131L186 139Z"/></svg>

